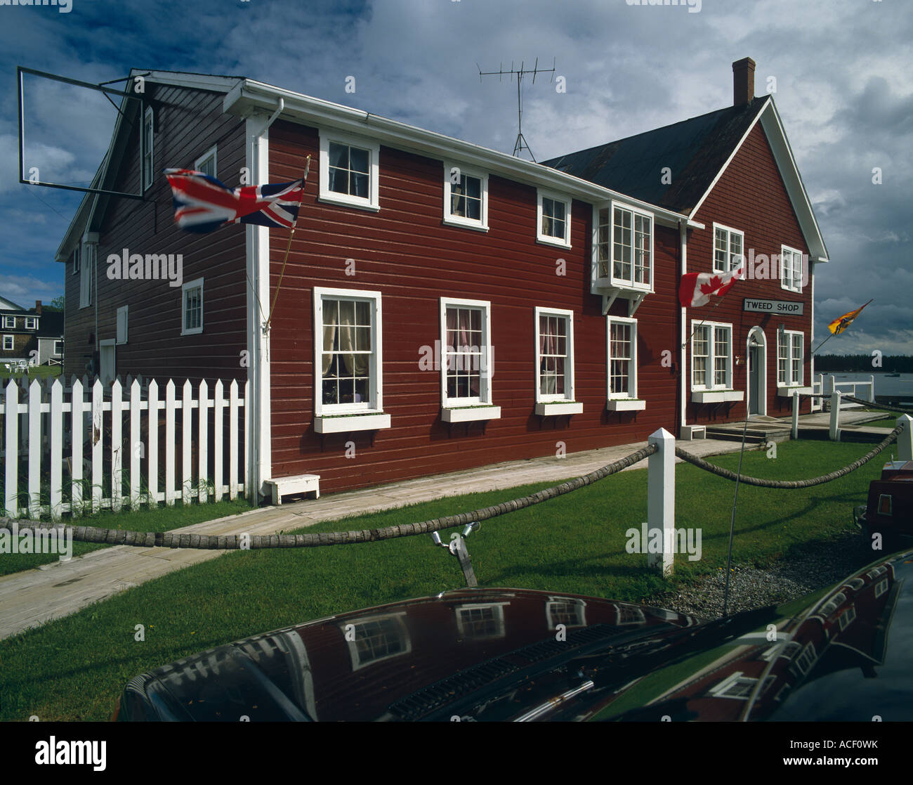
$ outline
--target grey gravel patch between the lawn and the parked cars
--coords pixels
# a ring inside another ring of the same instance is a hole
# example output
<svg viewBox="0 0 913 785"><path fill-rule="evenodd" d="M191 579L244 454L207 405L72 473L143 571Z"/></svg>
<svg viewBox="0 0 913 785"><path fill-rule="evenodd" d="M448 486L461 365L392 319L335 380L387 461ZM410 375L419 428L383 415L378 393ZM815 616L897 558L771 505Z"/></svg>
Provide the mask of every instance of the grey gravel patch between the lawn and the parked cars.
<svg viewBox="0 0 913 785"><path fill-rule="evenodd" d="M846 578L866 564L858 543L859 535L848 531L770 567L733 564L729 576L729 614L779 605ZM726 570L721 568L700 578L693 586L660 592L644 601L657 608L717 619L723 610L725 585Z"/></svg>

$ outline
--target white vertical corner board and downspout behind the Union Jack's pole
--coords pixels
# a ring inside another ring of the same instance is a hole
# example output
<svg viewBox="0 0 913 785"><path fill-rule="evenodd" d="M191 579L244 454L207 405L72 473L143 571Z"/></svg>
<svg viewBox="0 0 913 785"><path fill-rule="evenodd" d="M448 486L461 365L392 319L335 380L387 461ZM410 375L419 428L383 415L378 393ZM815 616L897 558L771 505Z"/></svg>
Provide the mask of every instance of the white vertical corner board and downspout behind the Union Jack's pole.
<svg viewBox="0 0 913 785"><path fill-rule="evenodd" d="M251 185L261 186L269 180L269 127L276 121L285 101L278 99L278 106L265 123L257 127L257 117L247 118L247 167ZM266 276L261 274L265 266ZM249 497L259 504L263 482L272 472L269 335L264 331L266 314L263 308L269 303L269 229L247 226L247 379L250 382L247 416L250 429L250 454L247 456L247 478L250 482ZM251 493L251 491L253 493Z"/></svg>

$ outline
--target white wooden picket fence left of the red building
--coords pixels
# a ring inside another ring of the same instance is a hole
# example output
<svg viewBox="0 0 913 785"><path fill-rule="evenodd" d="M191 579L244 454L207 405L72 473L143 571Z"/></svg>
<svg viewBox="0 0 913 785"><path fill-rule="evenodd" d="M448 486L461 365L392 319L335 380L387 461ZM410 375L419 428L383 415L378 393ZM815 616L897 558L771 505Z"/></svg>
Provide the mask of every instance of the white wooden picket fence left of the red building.
<svg viewBox="0 0 913 785"><path fill-rule="evenodd" d="M210 489L216 502L226 494L231 499L244 495L249 487L250 438L242 412L247 390L247 382L239 395L236 380L228 385L219 380L210 395L205 381L194 387L186 380L178 396L172 379L160 390L155 380L142 383L128 378L122 385L116 379L105 387L100 380L92 384L85 377L72 377L68 387L59 378L45 386L36 379L20 390L16 380L10 379L0 397L6 514L32 518L50 514L59 520L63 513L118 512L124 506L137 509L159 502L173 505L178 498L184 504L205 503ZM160 440L162 413L164 435ZM123 487L125 461L129 461L129 493ZM26 507L21 506L18 493L22 462L27 462ZM243 480L239 469L244 472ZM85 495L84 478L90 489Z"/></svg>

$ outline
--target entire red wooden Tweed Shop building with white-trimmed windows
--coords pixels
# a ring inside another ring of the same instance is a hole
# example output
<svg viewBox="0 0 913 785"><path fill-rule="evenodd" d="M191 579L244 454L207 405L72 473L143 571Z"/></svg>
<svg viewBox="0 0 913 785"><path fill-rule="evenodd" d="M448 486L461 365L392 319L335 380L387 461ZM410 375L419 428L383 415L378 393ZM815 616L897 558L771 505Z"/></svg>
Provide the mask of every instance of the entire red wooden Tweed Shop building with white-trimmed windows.
<svg viewBox="0 0 913 785"><path fill-rule="evenodd" d="M254 80L134 72L142 107L96 186L145 198L88 195L60 245L65 372L249 379L259 489L786 415L827 252L753 69L733 64L730 107L545 164ZM284 230L174 227L163 168L275 183L309 154L284 272ZM679 305L684 272L740 257L718 306Z"/></svg>

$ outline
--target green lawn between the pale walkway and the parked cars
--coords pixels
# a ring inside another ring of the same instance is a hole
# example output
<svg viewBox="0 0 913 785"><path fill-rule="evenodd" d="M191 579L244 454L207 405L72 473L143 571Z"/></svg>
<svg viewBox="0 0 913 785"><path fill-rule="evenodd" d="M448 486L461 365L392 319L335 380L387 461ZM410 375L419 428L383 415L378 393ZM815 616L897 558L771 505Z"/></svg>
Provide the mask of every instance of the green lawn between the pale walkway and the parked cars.
<svg viewBox="0 0 913 785"><path fill-rule="evenodd" d="M785 442L778 457L746 453L743 472L802 479L833 471L866 445ZM738 453L712 459L735 469ZM762 566L813 548L851 525L881 461L801 491L742 485L733 560ZM481 586L549 589L641 601L670 583L625 551L629 527L646 520L645 471L623 472L557 499L483 522L467 540ZM361 529L470 510L549 483L475 493L324 522L299 531ZM700 527L703 557L677 557L690 581L725 565L733 483L677 466L677 525ZM442 533L446 540L449 532ZM257 632L345 610L463 586L456 559L426 536L308 549L235 551L157 578L0 642L0 719L100 720L131 676ZM145 641L134 640L136 624Z"/></svg>

